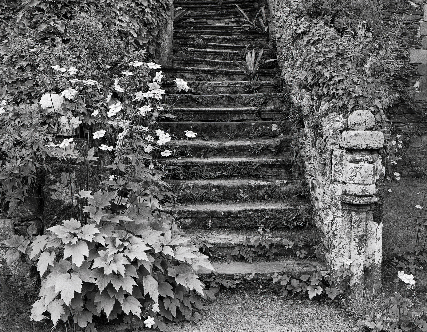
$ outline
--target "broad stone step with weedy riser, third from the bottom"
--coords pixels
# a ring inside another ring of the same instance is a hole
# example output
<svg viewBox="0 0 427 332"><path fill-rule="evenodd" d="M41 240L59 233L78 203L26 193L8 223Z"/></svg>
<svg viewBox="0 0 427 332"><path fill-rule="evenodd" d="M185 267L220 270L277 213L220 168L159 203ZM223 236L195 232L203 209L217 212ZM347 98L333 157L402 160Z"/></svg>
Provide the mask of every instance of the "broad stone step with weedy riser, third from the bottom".
<svg viewBox="0 0 427 332"><path fill-rule="evenodd" d="M307 225L310 209L305 200L286 203L189 203L164 208L166 213L176 216L178 224L183 228L202 225L254 228L261 224L278 228L302 227Z"/></svg>

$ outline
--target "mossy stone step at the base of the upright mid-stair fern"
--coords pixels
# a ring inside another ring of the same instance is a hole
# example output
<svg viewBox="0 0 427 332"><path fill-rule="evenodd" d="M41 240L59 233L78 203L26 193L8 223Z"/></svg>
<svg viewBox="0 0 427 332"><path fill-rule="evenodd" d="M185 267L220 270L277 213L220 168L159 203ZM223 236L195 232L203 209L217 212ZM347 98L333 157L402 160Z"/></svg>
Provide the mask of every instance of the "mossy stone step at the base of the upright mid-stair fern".
<svg viewBox="0 0 427 332"><path fill-rule="evenodd" d="M259 81L255 85L248 81L186 81L196 93L202 94L252 94L277 91L274 81ZM167 82L169 92L175 89L175 82ZM184 95L183 95L184 96Z"/></svg>

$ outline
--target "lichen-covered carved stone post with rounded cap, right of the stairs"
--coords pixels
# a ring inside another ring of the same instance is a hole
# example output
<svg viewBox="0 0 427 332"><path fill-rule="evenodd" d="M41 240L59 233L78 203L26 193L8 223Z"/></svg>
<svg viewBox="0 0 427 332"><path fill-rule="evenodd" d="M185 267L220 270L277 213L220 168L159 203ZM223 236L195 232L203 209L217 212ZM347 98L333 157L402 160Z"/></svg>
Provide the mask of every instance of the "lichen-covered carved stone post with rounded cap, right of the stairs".
<svg viewBox="0 0 427 332"><path fill-rule="evenodd" d="M332 181L341 186L341 208L351 213L351 292L362 286L378 291L381 275L382 223L374 221L374 204L384 166L379 150L383 148L381 131L370 111L355 111L348 117L348 128L341 134L340 147L333 151ZM344 238L346 236L343 236Z"/></svg>

